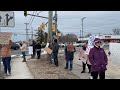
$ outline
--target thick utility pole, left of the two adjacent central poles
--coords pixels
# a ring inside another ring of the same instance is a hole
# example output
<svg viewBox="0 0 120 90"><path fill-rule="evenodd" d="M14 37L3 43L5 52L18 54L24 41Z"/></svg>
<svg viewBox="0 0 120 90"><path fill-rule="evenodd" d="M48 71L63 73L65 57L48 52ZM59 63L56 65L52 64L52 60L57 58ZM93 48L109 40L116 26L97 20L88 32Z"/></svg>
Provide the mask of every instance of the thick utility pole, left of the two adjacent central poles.
<svg viewBox="0 0 120 90"><path fill-rule="evenodd" d="M48 40L50 40L50 42L52 42L52 18L53 18L53 11L49 11L48 12Z"/></svg>

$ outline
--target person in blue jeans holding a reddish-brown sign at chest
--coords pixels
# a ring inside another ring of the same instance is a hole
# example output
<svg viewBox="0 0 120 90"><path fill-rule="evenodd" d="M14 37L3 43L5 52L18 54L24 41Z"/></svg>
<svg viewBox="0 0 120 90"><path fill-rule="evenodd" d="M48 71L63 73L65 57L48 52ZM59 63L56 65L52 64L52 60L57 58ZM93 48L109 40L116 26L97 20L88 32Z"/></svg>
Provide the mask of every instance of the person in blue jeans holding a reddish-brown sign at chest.
<svg viewBox="0 0 120 90"><path fill-rule="evenodd" d="M75 52L75 47L73 46L73 43L69 43L65 47L65 55L66 55L66 67L65 69L68 69L68 65L70 62L70 70L73 68L73 59L74 59L74 52Z"/></svg>

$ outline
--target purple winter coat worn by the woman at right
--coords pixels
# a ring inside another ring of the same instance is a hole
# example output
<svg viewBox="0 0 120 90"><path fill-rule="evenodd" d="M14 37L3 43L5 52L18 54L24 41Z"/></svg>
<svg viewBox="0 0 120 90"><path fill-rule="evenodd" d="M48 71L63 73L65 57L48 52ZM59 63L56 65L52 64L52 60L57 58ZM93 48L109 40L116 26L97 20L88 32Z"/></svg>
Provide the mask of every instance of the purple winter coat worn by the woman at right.
<svg viewBox="0 0 120 90"><path fill-rule="evenodd" d="M101 72L107 70L108 59L103 48L93 47L90 49L89 61L91 63L91 71Z"/></svg>

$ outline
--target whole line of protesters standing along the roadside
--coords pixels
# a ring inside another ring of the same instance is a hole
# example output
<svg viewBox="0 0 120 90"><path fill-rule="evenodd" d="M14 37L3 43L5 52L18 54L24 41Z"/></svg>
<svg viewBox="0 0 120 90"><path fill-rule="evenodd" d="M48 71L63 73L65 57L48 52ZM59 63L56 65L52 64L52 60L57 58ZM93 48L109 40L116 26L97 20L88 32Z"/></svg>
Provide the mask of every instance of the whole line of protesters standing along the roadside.
<svg viewBox="0 0 120 90"><path fill-rule="evenodd" d="M6 45L0 45L1 48L1 56L2 61L4 65L4 73L5 75L11 75L11 45L12 41L9 41L9 44ZM89 73L91 73L91 76L93 79L98 79L98 76L100 79L105 79L105 71L107 70L106 66L108 64L107 55L104 51L102 46L102 41L99 38L95 38L94 47L90 48L88 46L88 43L82 46L80 48L80 58L79 60L82 60L83 65L83 71L81 73L86 72L86 65L88 66ZM39 42L33 41L31 46L33 46L33 55L32 58L35 57L37 52L37 59L40 59L41 54L41 44ZM58 52L59 52L59 45L57 39L54 40L53 43L49 42L48 46L52 53L50 54L50 62L52 63L52 60L54 61L54 64L56 66L59 66L58 64ZM27 50L27 44L23 41L23 43L20 45L20 49L23 54L23 62L26 62L25 58L25 52ZM74 52L76 51L74 45L72 42L68 42L65 46L65 60L66 60L66 66L65 69L69 68L70 63L70 70L73 69L73 59L74 59ZM8 72L7 72L8 71Z"/></svg>

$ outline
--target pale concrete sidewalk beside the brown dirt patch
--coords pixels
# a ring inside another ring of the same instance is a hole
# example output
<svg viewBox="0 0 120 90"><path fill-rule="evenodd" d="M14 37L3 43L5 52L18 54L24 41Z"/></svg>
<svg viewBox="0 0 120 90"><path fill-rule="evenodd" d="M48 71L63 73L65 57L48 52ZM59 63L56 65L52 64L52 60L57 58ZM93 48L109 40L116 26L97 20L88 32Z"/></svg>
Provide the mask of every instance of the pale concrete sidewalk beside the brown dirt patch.
<svg viewBox="0 0 120 90"><path fill-rule="evenodd" d="M11 76L5 79L34 79L31 75L26 62L22 62L22 58L18 57L11 61Z"/></svg>

